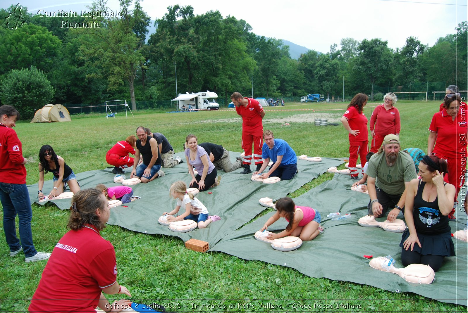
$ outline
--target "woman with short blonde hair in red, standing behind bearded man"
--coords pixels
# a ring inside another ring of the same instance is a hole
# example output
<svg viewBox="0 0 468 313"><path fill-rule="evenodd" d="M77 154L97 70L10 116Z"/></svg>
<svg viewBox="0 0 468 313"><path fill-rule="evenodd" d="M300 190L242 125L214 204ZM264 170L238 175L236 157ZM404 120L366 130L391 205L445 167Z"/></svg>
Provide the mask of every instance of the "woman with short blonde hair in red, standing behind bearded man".
<svg viewBox="0 0 468 313"><path fill-rule="evenodd" d="M396 95L389 92L383 97L384 103L374 109L371 116L371 152L377 153L383 138L389 134L400 136L400 112L395 108Z"/></svg>

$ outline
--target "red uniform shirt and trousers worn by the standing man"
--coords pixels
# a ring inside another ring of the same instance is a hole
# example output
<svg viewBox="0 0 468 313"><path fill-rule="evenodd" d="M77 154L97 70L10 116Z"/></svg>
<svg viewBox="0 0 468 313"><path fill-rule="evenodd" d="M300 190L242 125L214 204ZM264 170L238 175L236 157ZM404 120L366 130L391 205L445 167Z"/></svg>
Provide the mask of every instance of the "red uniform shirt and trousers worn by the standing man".
<svg viewBox="0 0 468 313"><path fill-rule="evenodd" d="M252 145L254 146L254 162L262 164L262 146L263 146L263 124L260 113L263 107L255 99L245 98L249 101L247 107L238 106L235 108L237 114L242 116L242 149L245 156L244 164L252 164Z"/></svg>

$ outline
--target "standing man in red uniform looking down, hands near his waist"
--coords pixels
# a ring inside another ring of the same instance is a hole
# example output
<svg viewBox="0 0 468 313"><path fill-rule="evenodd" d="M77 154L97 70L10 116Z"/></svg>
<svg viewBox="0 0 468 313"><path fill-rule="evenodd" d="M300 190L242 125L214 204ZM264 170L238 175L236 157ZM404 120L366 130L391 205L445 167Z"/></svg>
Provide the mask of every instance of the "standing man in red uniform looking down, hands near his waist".
<svg viewBox="0 0 468 313"><path fill-rule="evenodd" d="M262 146L263 146L263 124L262 119L265 111L262 105L251 98L244 98L238 92L231 95L231 100L235 105L237 114L242 116L242 149L244 149L243 165L241 174L252 173L250 164L252 163L252 144L254 146L254 162L256 170L262 167Z"/></svg>

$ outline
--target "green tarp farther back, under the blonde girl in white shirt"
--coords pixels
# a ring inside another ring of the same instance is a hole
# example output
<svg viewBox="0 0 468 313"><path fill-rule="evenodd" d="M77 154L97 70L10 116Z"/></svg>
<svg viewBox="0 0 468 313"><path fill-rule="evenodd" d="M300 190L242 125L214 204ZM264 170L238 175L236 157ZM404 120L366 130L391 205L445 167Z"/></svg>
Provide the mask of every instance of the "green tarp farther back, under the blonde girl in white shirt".
<svg viewBox="0 0 468 313"><path fill-rule="evenodd" d="M183 153L177 153L185 160ZM239 153L231 152L232 161ZM118 206L112 208L108 224L118 225L129 230L140 233L157 233L177 236L186 241L190 238L209 242L211 247L226 234L232 233L265 208L258 203L262 197L278 199L286 196L289 192L299 189L302 185L312 181L320 174L327 171L329 167L338 166L343 160L324 158L322 162L309 162L298 160L299 173L289 181L281 181L274 184L263 184L252 182L251 175L239 174L241 170L225 173L218 171L221 175L221 184L218 187L209 189L207 192L200 192L197 198L205 204L210 215L219 215L220 221L211 223L205 229L195 229L188 233L173 232L168 226L158 224L158 218L163 212L172 211L176 206L176 200L169 197L169 188L173 182L183 180L190 182L187 164L184 162L173 168L163 169L165 176L155 179L147 184L139 183L132 186L133 195L142 197L137 201L124 204L128 207ZM130 170L126 170L129 171ZM110 169L95 170L76 175L80 182L81 189L93 188L98 183L103 183L107 187L117 186L113 182L114 174ZM127 174L127 178L130 178ZM37 184L28 186L32 202L37 200ZM45 182L44 191L52 188L52 181ZM208 194L211 192L211 194ZM70 199L53 200L60 209L70 207ZM44 203L39 203L44 204ZM182 210L182 209L181 209ZM181 214L183 211L179 211Z"/></svg>

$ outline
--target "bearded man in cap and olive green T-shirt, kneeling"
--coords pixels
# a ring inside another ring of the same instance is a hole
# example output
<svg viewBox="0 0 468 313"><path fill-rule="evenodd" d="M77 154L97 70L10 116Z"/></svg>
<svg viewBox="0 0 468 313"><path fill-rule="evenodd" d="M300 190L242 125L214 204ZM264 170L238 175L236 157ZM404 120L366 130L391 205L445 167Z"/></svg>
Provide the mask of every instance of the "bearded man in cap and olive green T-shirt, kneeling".
<svg viewBox="0 0 468 313"><path fill-rule="evenodd" d="M385 136L378 153L369 160L366 174L367 190L371 200L367 212L375 218L382 217L388 208L389 222L405 205L406 186L416 178L413 159L407 153L400 153L400 139L394 134Z"/></svg>

